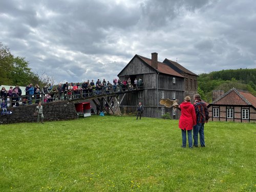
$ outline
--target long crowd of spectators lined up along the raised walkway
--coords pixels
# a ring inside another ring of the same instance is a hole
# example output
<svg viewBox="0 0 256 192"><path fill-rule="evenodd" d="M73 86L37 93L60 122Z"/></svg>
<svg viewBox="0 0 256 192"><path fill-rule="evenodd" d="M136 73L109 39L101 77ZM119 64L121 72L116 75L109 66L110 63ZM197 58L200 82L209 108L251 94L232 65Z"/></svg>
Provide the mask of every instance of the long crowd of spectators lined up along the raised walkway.
<svg viewBox="0 0 256 192"><path fill-rule="evenodd" d="M143 86L142 79L139 78L137 80L135 78L134 82L131 82L131 78L129 77L127 80L120 81L120 79L113 79L113 82L106 81L105 79L101 80L97 79L96 82L94 80L84 81L83 83L59 83L57 86L53 86L51 83L40 88L38 84L30 83L26 86L25 94L19 88L19 86L15 86L15 88L10 87L9 90L6 90L5 87L1 89L0 96L2 103L4 102L6 107L8 103L8 98L10 99L10 106L19 106L20 102L23 105L32 104L32 100L35 100L35 103L39 102L51 102L53 100L71 100L77 98L86 98L93 95L100 94L108 94L113 92L120 92L126 90L138 89ZM2 107L1 107L2 108ZM2 111L6 109L3 108Z"/></svg>

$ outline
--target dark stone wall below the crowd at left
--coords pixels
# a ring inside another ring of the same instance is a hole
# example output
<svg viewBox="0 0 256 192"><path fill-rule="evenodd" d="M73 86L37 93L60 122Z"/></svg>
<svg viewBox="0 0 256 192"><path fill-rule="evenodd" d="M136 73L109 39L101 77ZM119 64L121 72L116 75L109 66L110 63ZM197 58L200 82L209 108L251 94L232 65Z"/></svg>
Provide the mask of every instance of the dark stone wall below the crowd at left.
<svg viewBox="0 0 256 192"><path fill-rule="evenodd" d="M0 115L0 124L17 123L17 122L36 122L37 117L33 116L37 104L26 106L17 106L16 108L7 108L11 111L10 115ZM55 101L42 103L44 121L57 121L78 118L75 105L72 102Z"/></svg>

